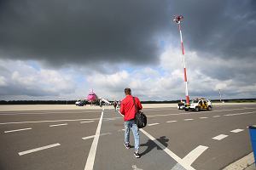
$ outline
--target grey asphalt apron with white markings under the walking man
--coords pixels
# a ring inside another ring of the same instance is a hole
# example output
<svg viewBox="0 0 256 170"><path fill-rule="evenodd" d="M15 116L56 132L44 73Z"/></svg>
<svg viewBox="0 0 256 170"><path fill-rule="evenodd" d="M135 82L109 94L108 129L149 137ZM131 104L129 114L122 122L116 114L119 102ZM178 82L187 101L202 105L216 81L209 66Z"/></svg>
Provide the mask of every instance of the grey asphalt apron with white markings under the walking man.
<svg viewBox="0 0 256 170"><path fill-rule="evenodd" d="M212 111L144 109L141 158L124 146L124 122L113 109L0 111L1 170L223 169L252 152L247 127L256 105Z"/></svg>

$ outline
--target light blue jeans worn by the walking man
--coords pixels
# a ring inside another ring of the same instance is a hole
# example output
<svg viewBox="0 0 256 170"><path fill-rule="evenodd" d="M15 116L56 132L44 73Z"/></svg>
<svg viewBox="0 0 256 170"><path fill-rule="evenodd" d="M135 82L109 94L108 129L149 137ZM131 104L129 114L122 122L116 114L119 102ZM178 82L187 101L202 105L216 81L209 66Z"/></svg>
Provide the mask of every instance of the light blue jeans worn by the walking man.
<svg viewBox="0 0 256 170"><path fill-rule="evenodd" d="M134 136L134 149L135 151L138 151L140 147L140 134L134 120L125 122L125 144L130 143L130 129L132 130Z"/></svg>

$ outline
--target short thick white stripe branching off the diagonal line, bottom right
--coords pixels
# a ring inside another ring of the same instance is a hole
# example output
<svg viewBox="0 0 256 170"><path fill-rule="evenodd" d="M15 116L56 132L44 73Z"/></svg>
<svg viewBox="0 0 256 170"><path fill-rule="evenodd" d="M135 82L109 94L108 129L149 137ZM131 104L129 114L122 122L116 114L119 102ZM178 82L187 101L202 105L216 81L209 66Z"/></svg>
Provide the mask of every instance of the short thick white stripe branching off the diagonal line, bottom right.
<svg viewBox="0 0 256 170"><path fill-rule="evenodd" d="M183 158L183 161L191 165L207 149L207 146L199 145L194 150L190 151L189 154Z"/></svg>

